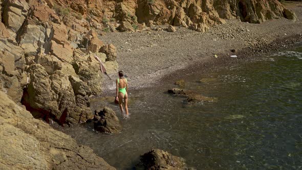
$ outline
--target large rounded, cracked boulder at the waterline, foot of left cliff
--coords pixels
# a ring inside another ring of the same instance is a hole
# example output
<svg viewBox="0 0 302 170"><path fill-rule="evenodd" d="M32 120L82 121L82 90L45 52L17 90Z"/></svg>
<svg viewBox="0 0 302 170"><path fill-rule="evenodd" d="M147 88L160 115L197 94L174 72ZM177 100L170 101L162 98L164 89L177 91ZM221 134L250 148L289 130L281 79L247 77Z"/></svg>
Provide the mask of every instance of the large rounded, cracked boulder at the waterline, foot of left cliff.
<svg viewBox="0 0 302 170"><path fill-rule="evenodd" d="M30 73L30 81L22 103L28 110L38 111L40 117L46 119L52 116L62 124L85 121L93 116L82 102L77 103L69 77L61 70L48 74L43 66L33 64L27 72Z"/></svg>

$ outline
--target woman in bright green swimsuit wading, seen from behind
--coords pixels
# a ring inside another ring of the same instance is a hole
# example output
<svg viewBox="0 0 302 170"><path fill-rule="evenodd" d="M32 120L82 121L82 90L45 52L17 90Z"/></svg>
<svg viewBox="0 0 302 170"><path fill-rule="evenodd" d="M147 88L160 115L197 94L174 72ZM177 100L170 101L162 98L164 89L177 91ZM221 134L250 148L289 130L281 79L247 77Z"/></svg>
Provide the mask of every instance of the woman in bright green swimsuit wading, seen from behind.
<svg viewBox="0 0 302 170"><path fill-rule="evenodd" d="M126 117L129 117L128 113L128 81L124 78L123 71L118 72L119 78L116 79L116 100L119 102L120 110L123 114L122 102L124 100Z"/></svg>

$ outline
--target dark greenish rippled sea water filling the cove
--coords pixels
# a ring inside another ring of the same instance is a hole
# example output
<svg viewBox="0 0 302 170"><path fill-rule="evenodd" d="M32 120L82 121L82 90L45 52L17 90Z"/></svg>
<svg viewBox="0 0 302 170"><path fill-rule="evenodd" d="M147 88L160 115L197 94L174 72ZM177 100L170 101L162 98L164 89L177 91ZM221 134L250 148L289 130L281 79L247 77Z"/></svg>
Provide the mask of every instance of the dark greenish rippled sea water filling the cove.
<svg viewBox="0 0 302 170"><path fill-rule="evenodd" d="M110 100L93 100L93 109L102 102L118 113L122 132L105 135L76 126L66 133L118 169L133 167L151 148L181 156L197 169L301 168L301 52L186 77L186 89L218 102L188 105L186 98L167 94L173 86L166 84L132 91L131 119L122 120Z"/></svg>

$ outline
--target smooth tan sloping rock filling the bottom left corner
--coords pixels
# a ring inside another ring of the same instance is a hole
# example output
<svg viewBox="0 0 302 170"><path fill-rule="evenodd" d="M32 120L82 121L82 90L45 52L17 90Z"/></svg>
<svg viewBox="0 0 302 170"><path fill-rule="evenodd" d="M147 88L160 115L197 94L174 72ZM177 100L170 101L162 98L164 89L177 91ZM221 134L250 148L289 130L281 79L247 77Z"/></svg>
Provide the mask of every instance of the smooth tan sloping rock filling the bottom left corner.
<svg viewBox="0 0 302 170"><path fill-rule="evenodd" d="M0 91L2 169L115 169L70 136L34 119Z"/></svg>

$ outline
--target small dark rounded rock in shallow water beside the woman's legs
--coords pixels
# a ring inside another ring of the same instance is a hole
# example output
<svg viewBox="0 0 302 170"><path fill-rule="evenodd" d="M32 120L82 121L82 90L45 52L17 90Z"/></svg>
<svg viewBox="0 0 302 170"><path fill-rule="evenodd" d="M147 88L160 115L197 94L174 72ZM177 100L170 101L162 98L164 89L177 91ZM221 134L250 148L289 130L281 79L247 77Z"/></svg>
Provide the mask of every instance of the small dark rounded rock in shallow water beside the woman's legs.
<svg viewBox="0 0 302 170"><path fill-rule="evenodd" d="M94 116L94 129L98 132L118 133L122 130L122 125L115 112L108 108L104 109Z"/></svg>

